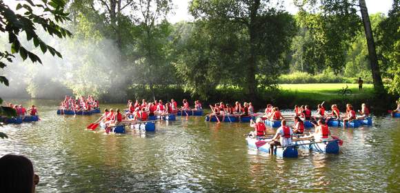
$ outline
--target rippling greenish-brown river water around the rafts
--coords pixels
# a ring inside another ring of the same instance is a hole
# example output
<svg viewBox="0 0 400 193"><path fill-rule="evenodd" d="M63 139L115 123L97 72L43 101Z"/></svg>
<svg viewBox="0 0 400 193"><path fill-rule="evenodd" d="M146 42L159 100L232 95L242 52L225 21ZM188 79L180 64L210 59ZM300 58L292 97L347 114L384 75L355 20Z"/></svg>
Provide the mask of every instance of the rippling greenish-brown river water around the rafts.
<svg viewBox="0 0 400 193"><path fill-rule="evenodd" d="M390 116L331 128L344 141L339 155L300 149L281 159L248 149L248 123L177 116L154 133L104 134L85 129L97 115L57 115L56 101L11 102L37 105L41 121L0 128L9 136L0 156L28 156L37 192L400 192L400 119Z"/></svg>

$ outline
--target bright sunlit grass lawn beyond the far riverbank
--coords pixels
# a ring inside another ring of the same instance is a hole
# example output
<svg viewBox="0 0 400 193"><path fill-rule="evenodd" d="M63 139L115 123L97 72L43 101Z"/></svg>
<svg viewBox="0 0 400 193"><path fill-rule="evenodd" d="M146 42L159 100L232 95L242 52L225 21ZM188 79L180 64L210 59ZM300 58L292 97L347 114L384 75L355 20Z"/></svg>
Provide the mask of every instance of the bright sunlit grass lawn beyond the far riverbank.
<svg viewBox="0 0 400 193"><path fill-rule="evenodd" d="M339 90L346 88L352 90L350 96L338 94ZM316 83L316 84L281 84L279 88L283 96L295 95L297 98L330 101L332 99L368 99L374 91L372 84L364 84L363 92L359 91L358 84L346 83Z"/></svg>

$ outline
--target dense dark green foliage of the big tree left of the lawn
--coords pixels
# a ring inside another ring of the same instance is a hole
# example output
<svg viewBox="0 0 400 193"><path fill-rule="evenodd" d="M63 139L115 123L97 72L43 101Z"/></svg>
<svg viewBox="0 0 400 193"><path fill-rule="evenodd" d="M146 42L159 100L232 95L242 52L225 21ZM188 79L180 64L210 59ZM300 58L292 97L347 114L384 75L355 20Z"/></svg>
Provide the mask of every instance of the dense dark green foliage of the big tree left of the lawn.
<svg viewBox="0 0 400 193"><path fill-rule="evenodd" d="M254 98L257 85L274 84L285 68L283 53L295 31L294 20L287 12L269 1L206 0L191 1L190 12L206 23L203 27L211 41L206 53L219 56L202 60L216 62L208 71L214 71L214 66L222 68L229 75L217 71L225 78L221 81L241 86L250 98ZM274 73L266 76L266 72Z"/></svg>

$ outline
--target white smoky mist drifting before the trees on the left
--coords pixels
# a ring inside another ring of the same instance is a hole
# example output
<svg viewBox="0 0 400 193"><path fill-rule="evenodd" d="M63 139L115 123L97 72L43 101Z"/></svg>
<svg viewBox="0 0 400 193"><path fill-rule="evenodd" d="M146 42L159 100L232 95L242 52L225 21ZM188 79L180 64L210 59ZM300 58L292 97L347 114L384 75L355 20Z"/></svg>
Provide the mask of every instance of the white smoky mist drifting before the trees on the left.
<svg viewBox="0 0 400 193"><path fill-rule="evenodd" d="M72 34L74 34L74 31ZM114 41L99 34L91 37L56 39L39 30L41 39L59 52L63 58L53 57L50 52L43 54L26 41L25 34L19 39L27 50L37 54L43 63L23 61L15 54L12 63L0 71L7 77L10 86L0 85L0 96L17 99L62 99L64 95L88 95L96 97L109 92L110 88L121 88L126 75L121 68L120 53ZM1 34L2 50L10 51L8 35Z"/></svg>

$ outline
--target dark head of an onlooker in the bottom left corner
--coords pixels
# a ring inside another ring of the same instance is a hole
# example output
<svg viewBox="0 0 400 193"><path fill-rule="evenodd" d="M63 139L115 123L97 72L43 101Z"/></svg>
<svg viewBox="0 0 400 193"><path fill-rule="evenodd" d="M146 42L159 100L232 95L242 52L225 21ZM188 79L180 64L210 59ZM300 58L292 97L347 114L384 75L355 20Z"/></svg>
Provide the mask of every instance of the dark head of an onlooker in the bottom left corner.
<svg viewBox="0 0 400 193"><path fill-rule="evenodd" d="M25 156L7 154L0 158L0 192L34 191L32 162Z"/></svg>

